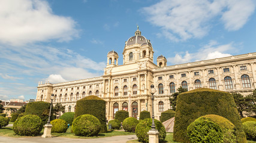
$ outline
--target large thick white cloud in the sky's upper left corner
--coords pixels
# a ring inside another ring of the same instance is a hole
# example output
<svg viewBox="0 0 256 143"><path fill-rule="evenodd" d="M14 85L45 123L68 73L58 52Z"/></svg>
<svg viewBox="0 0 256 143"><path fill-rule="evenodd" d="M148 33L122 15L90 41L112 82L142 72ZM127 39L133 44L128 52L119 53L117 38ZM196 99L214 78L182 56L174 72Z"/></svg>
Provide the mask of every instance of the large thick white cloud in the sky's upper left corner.
<svg viewBox="0 0 256 143"><path fill-rule="evenodd" d="M46 1L0 1L0 21L0 42L11 45L79 36L76 21L53 14Z"/></svg>

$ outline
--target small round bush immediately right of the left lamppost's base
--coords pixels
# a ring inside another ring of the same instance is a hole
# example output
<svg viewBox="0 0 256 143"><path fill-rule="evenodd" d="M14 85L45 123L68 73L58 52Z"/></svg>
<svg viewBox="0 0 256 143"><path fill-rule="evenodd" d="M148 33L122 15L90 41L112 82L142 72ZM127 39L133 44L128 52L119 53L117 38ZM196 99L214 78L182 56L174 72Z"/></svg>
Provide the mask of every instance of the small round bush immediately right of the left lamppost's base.
<svg viewBox="0 0 256 143"><path fill-rule="evenodd" d="M54 133L65 133L68 129L67 122L62 119L52 120L50 124L52 124L52 132Z"/></svg>

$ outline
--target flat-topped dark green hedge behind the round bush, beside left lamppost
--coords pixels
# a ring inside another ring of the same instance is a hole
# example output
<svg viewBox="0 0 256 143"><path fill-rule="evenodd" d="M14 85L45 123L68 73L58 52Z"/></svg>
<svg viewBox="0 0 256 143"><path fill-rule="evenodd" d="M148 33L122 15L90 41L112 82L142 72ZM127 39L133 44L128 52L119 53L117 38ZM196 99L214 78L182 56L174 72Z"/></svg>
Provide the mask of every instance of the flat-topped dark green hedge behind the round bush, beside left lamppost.
<svg viewBox="0 0 256 143"><path fill-rule="evenodd" d="M50 103L44 101L29 102L26 104L25 115L33 114L40 117L45 124L49 117Z"/></svg>

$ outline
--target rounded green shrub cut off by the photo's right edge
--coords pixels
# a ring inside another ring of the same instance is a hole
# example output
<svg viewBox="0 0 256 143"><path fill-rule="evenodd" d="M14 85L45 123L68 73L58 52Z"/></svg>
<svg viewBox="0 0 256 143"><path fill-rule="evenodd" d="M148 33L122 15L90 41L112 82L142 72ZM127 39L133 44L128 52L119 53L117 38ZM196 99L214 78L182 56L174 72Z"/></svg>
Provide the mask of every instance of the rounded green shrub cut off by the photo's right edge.
<svg viewBox="0 0 256 143"><path fill-rule="evenodd" d="M243 123L243 131L245 131L246 138L251 141L256 141L256 122L248 121Z"/></svg>

